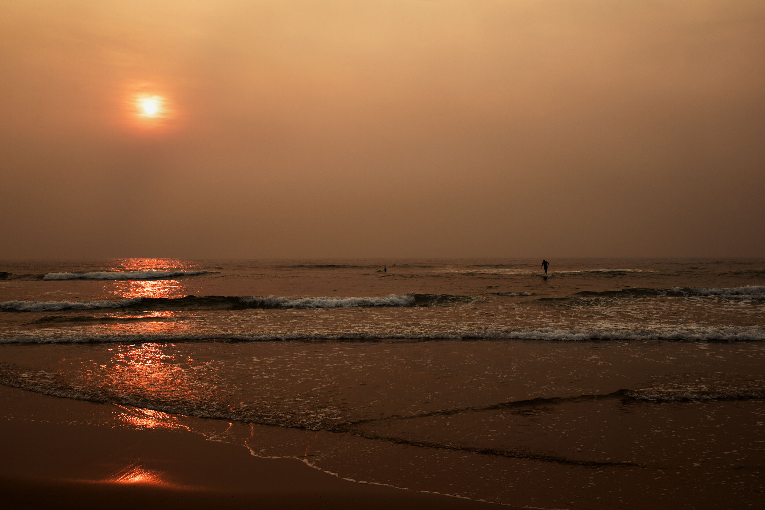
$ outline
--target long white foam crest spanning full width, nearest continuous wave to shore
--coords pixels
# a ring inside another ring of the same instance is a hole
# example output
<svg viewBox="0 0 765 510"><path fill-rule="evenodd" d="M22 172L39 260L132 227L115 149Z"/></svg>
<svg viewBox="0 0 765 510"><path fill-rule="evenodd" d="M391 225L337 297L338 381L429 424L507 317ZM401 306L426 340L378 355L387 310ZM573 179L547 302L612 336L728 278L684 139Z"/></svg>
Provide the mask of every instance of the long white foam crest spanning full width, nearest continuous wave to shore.
<svg viewBox="0 0 765 510"><path fill-rule="evenodd" d="M200 342L229 340L232 342L276 342L281 340L461 340L461 339L523 339L553 341L588 340L666 340L666 341L765 341L765 326L712 327L685 326L666 329L604 329L604 330L485 330L473 332L434 331L432 333L179 333L137 335L67 335L61 333L12 332L0 333L2 343L102 343L102 342Z"/></svg>

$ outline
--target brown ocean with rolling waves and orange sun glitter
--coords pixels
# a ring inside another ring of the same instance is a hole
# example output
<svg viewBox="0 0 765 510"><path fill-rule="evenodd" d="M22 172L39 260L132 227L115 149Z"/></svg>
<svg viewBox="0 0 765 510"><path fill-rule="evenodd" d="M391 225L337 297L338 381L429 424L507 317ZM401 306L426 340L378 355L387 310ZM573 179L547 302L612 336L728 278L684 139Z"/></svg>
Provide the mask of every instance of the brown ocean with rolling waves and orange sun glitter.
<svg viewBox="0 0 765 510"><path fill-rule="evenodd" d="M5 261L0 384L356 482L763 505L765 259L541 262Z"/></svg>

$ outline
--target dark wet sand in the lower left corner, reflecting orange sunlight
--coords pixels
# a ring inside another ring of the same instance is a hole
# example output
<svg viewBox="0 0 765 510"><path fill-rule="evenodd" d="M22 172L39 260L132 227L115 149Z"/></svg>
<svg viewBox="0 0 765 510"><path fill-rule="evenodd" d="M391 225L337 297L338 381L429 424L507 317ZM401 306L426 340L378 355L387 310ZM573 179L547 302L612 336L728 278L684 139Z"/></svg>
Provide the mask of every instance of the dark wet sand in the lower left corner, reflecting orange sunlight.
<svg viewBox="0 0 765 510"><path fill-rule="evenodd" d="M496 508L347 482L187 430L120 427L111 404L5 386L0 401L3 508Z"/></svg>

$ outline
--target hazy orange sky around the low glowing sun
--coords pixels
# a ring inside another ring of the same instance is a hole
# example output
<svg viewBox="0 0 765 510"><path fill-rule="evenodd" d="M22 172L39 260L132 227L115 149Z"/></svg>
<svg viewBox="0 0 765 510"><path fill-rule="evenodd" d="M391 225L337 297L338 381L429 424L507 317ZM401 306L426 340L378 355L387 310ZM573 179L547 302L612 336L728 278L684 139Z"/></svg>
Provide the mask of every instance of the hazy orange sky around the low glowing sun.
<svg viewBox="0 0 765 510"><path fill-rule="evenodd" d="M0 0L0 51L0 258L765 255L762 0Z"/></svg>

